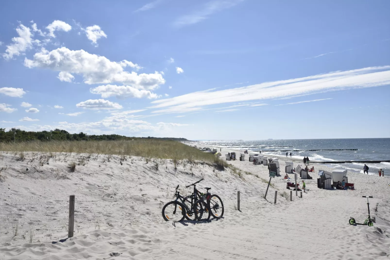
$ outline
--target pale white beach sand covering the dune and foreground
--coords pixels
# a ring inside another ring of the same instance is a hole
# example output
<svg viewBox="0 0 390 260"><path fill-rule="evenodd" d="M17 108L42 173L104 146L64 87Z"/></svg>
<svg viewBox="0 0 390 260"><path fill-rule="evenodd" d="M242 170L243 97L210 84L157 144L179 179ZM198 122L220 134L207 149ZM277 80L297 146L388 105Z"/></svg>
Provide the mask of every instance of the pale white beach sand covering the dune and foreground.
<svg viewBox="0 0 390 260"><path fill-rule="evenodd" d="M223 149L223 156L227 151L234 150ZM388 177L348 173L355 191L329 191L317 189L318 169L329 169L315 165L313 180L307 180L310 191L303 193L303 198L293 193L293 201L289 201L282 179L284 161L280 160L282 177L271 180L275 188L269 188L269 203L262 198L269 180L268 167L252 165L247 155L244 162L228 162L253 174L241 177L230 169L218 171L206 164L181 162L175 170L171 160L146 163L144 158L132 157L121 165L118 156L46 156L27 153L24 161L18 161L18 155L0 153L0 205L6 205L0 206L2 260L390 257ZM82 159L85 165L69 173L69 162ZM176 185L188 193L191 190L184 185L202 177L205 180L199 188L212 187L211 191L223 199L224 218L177 223L176 227L163 221L161 208L172 200ZM272 204L276 190L277 204ZM235 210L237 191L241 192L241 212ZM71 194L78 200L74 237L52 244L67 237L66 201ZM362 195L374 196L370 199L371 217L376 218L373 227L348 224L350 216L359 222L367 217L367 201ZM14 204L30 205L11 206ZM19 230L14 236L12 224L16 223ZM33 242L28 243L31 227Z"/></svg>

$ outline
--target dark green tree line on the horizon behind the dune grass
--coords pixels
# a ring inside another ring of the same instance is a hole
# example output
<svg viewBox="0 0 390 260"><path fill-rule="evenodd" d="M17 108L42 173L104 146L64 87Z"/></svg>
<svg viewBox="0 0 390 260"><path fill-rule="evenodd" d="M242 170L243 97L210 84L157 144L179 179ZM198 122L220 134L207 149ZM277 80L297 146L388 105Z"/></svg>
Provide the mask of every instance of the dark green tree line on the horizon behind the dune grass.
<svg viewBox="0 0 390 260"><path fill-rule="evenodd" d="M185 138L158 138L158 137L127 137L124 135L87 135L83 132L78 134L71 134L66 130L54 129L53 131L25 131L16 128L11 128L5 131L5 128L0 128L0 142L25 142L39 140L43 142L48 141L90 141L90 140L131 140L131 139L163 139L173 141L188 141Z"/></svg>

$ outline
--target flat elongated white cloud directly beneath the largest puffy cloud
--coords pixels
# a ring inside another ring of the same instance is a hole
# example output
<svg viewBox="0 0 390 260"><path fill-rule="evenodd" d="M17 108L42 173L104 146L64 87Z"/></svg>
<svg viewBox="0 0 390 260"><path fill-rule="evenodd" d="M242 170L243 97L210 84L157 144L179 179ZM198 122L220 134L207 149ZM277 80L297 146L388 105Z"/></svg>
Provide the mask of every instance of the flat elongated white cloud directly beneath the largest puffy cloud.
<svg viewBox="0 0 390 260"><path fill-rule="evenodd" d="M93 94L100 94L102 98L116 96L117 98L158 98L158 95L149 90L136 89L131 86L101 85L91 88Z"/></svg>

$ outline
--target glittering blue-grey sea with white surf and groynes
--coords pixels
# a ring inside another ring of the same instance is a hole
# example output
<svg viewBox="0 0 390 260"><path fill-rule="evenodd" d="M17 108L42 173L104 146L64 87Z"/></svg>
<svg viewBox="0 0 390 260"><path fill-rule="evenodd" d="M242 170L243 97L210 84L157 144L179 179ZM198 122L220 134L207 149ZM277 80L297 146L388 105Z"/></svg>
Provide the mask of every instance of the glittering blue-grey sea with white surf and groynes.
<svg viewBox="0 0 390 260"><path fill-rule="evenodd" d="M291 150L294 158L308 156L310 161L363 161L363 160L390 160L390 138L360 138L360 139L290 139L290 140L217 140L197 141L198 144L209 146L231 148L235 150L252 150L261 153L284 155L285 151L269 150ZM281 146L281 147L276 147ZM291 146L291 147L289 147ZM313 149L358 149L357 151L294 151ZM290 151L288 152L290 154ZM289 155L290 157L290 155ZM332 167L348 169L363 173L362 163L331 164ZM369 174L379 175L382 169L386 176L390 176L390 163L381 162L378 164L367 164Z"/></svg>

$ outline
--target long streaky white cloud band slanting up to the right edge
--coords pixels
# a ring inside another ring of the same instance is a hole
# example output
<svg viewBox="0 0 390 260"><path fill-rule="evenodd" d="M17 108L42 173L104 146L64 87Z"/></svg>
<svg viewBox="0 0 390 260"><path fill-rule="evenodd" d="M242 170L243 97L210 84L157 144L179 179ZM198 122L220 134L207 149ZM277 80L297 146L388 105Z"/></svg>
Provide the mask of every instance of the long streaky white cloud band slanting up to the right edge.
<svg viewBox="0 0 390 260"><path fill-rule="evenodd" d="M266 100L390 84L390 66L369 67L349 71L336 71L320 75L274 82L264 82L223 90L206 90L173 98L153 101L152 113L188 112L207 105L250 100Z"/></svg>

